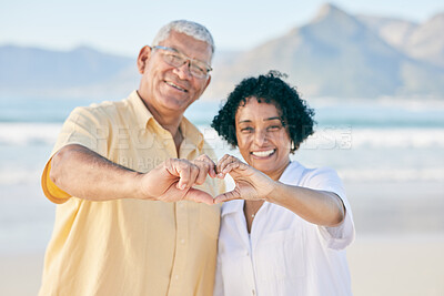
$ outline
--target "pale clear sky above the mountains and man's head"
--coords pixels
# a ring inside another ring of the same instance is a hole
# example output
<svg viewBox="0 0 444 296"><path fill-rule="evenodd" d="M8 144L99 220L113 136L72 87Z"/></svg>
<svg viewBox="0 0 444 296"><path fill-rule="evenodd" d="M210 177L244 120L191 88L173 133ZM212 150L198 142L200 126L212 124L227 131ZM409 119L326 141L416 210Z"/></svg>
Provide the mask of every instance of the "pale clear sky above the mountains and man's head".
<svg viewBox="0 0 444 296"><path fill-rule="evenodd" d="M0 45L52 50L87 45L135 57L175 19L204 24L216 50L242 51L307 23L322 0L0 0ZM437 0L330 1L352 14L424 22L444 12Z"/></svg>

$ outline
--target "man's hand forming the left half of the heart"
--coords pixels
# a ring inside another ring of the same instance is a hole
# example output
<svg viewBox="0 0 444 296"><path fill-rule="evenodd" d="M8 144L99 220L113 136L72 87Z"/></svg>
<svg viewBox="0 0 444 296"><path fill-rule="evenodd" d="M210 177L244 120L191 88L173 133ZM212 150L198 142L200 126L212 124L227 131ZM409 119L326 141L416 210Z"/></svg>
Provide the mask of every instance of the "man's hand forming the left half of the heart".
<svg viewBox="0 0 444 296"><path fill-rule="evenodd" d="M193 162L169 159L141 177L141 191L147 198L162 202L193 201L213 204L213 196L193 188L205 182L206 175L215 176L212 161L202 155ZM214 164L214 163L213 163Z"/></svg>

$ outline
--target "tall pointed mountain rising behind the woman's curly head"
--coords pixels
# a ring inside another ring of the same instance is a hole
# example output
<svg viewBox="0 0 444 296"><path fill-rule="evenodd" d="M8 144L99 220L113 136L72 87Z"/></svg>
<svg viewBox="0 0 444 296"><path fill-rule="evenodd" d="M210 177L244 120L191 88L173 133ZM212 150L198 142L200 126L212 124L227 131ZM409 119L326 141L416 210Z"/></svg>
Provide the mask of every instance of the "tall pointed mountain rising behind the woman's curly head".
<svg viewBox="0 0 444 296"><path fill-rule="evenodd" d="M404 31L415 29L406 27ZM397 39L402 38L401 32ZM410 57L393 43L357 17L325 4L310 23L215 70L211 95L229 92L244 76L273 69L289 74L287 81L303 95L443 96L444 70Z"/></svg>

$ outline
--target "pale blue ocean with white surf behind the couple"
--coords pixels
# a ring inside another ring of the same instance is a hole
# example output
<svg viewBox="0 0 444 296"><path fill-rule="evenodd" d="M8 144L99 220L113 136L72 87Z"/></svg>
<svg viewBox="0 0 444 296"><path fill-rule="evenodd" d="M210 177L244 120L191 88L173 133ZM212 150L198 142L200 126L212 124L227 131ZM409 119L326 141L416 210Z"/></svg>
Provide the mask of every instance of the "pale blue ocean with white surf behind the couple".
<svg viewBox="0 0 444 296"><path fill-rule="evenodd" d="M73 108L90 103L0 98L0 252L44 249L56 206L40 190L40 174L64 119ZM305 166L333 167L345 182L444 182L444 102L317 99L309 103L316 112L316 132L292 155ZM220 104L198 101L185 115L218 156L240 156L210 127Z"/></svg>

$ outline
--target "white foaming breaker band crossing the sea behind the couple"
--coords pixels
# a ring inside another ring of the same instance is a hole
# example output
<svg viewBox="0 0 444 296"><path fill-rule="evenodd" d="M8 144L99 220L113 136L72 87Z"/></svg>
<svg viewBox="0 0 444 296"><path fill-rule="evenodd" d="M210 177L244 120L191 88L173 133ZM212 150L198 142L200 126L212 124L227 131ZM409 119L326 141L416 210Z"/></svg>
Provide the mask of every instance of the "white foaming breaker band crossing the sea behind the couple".
<svg viewBox="0 0 444 296"><path fill-rule="evenodd" d="M53 145L61 123L0 123L0 145ZM230 145L208 125L200 125L206 142L215 150L229 151ZM323 126L309 136L301 150L350 149L443 149L444 129L353 129Z"/></svg>

